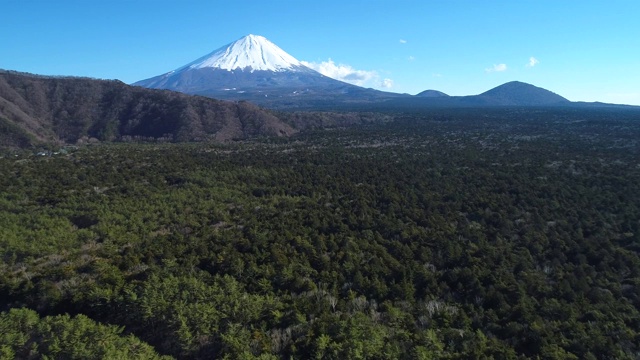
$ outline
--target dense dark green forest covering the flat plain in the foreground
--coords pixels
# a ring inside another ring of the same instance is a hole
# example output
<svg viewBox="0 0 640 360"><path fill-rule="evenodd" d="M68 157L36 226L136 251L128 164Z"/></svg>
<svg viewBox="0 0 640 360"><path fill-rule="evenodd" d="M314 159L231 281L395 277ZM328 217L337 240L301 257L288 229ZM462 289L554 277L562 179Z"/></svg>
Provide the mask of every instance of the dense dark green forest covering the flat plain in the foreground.
<svg viewBox="0 0 640 360"><path fill-rule="evenodd" d="M0 358L637 359L640 122L572 111L6 152Z"/></svg>

